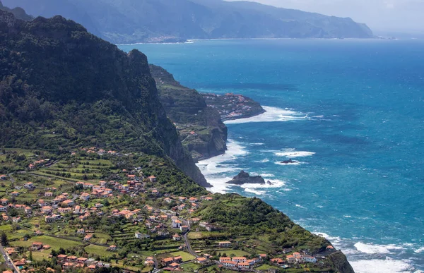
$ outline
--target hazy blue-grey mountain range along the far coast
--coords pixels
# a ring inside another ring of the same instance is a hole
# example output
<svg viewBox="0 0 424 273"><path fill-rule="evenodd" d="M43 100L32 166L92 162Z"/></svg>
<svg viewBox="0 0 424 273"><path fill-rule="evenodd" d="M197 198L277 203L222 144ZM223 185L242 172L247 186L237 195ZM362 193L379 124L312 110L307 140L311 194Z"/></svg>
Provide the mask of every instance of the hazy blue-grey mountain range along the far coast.
<svg viewBox="0 0 424 273"><path fill-rule="evenodd" d="M370 38L351 18L222 0L3 0L32 16L61 15L114 43L220 38Z"/></svg>

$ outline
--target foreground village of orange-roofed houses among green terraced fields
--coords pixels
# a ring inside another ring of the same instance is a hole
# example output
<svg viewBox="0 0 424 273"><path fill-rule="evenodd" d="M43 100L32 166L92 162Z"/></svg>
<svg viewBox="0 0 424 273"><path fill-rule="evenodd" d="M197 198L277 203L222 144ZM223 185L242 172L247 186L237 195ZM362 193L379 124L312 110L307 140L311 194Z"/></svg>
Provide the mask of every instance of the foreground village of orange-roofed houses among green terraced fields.
<svg viewBox="0 0 424 273"><path fill-rule="evenodd" d="M49 159L19 152L30 163L0 175L4 272L329 272L327 256L336 252L329 243L319 252L276 250L266 235L229 233L202 217L223 195L174 194L148 168L112 164L128 154L89 147ZM4 150L2 163L16 153Z"/></svg>

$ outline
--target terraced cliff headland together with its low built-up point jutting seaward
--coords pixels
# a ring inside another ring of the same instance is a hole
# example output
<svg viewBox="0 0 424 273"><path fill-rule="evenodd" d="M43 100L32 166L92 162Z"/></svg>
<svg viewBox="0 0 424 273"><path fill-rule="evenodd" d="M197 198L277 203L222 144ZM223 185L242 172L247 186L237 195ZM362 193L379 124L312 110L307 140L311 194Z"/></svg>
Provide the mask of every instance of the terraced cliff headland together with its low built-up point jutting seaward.
<svg viewBox="0 0 424 273"><path fill-rule="evenodd" d="M259 102L242 95L199 93L181 85L160 66L151 64L160 103L174 123L182 145L195 161L223 154L227 150L228 128L223 121L263 114Z"/></svg>

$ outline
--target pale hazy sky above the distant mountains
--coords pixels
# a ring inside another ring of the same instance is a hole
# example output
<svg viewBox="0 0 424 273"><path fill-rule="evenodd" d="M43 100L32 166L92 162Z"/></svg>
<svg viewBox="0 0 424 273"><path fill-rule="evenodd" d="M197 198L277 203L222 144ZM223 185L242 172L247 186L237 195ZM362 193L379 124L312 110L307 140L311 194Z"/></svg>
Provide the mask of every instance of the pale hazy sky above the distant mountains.
<svg viewBox="0 0 424 273"><path fill-rule="evenodd" d="M236 0L227 0L236 1ZM283 8L351 17L375 32L424 35L424 0L248 0Z"/></svg>

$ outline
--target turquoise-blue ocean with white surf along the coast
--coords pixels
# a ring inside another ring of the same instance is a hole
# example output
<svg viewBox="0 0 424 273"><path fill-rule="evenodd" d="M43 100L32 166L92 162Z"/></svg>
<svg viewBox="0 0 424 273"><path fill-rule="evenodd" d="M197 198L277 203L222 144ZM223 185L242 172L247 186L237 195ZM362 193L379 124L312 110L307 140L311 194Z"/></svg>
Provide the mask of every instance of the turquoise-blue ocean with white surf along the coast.
<svg viewBox="0 0 424 273"><path fill-rule="evenodd" d="M119 47L199 92L246 95L266 109L228 121L228 152L199 162L210 190L263 199L329 238L357 273L423 272L423 40ZM225 184L241 170L272 185Z"/></svg>

